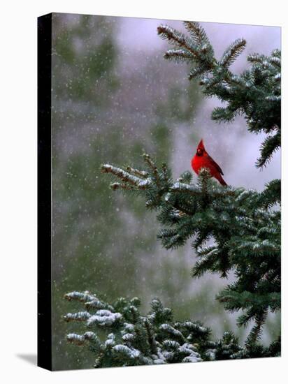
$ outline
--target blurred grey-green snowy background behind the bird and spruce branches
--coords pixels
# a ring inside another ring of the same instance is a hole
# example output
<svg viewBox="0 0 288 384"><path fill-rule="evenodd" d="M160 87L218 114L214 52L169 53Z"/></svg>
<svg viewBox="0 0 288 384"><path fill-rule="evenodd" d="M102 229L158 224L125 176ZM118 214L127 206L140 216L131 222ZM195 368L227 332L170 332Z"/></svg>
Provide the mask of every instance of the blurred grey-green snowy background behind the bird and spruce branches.
<svg viewBox="0 0 288 384"><path fill-rule="evenodd" d="M219 101L204 99L189 66L163 59L168 43L157 26L184 31L182 22L129 17L53 14L52 20L52 348L53 369L92 367L86 350L66 343L81 326L62 316L79 306L66 302L71 290L90 290L103 300L141 298L143 313L152 297L171 307L175 319L201 320L222 337L240 313L215 301L227 280L206 274L192 279L190 244L167 251L157 242L159 226L144 201L109 189L101 163L141 168L143 152L166 161L173 177L190 170L201 138L233 186L261 190L280 177L280 152L262 171L254 163L261 135L247 133L245 121L218 124L210 113ZM219 57L236 38L247 40L233 64L240 73L252 52L280 48L279 27L201 23ZM233 280L233 273L229 281ZM280 315L268 316L262 340L280 332Z"/></svg>

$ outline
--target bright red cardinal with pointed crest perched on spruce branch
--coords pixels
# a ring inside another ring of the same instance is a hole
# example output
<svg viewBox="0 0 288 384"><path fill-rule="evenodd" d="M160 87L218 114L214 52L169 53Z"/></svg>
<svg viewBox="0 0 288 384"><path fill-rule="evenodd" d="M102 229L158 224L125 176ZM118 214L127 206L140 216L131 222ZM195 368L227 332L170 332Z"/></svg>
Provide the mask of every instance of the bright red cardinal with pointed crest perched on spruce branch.
<svg viewBox="0 0 288 384"><path fill-rule="evenodd" d="M208 168L208 170L210 170L211 177L215 177L215 179L217 179L220 184L227 185L223 177L221 176L224 175L222 169L206 152L206 149L203 144L203 139L201 140L201 142L199 142L196 154L194 154L194 157L191 160L191 166L197 175L201 168Z"/></svg>

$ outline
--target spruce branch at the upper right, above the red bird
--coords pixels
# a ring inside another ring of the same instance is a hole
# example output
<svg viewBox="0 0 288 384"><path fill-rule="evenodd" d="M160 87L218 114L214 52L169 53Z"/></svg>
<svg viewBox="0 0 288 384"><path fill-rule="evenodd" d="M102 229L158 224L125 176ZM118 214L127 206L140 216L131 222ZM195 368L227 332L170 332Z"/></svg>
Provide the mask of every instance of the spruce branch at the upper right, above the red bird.
<svg viewBox="0 0 288 384"><path fill-rule="evenodd" d="M192 64L189 80L199 79L203 94L217 96L226 103L212 112L212 119L233 121L243 115L250 132L267 134L261 145L257 167L266 166L281 145L281 54L271 56L250 54L251 68L235 75L229 67L245 49L243 38L235 40L217 60L208 36L199 23L185 22L189 36L166 25L158 27L161 38L180 49L168 50L165 59L188 61Z"/></svg>

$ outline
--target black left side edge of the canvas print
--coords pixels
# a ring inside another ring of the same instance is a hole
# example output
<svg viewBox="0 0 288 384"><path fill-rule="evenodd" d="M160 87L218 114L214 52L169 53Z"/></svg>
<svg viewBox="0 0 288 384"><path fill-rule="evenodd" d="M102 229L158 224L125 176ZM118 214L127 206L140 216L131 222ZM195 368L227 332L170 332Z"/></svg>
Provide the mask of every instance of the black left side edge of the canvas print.
<svg viewBox="0 0 288 384"><path fill-rule="evenodd" d="M51 309L51 49L52 13L37 20L37 365L52 370Z"/></svg>

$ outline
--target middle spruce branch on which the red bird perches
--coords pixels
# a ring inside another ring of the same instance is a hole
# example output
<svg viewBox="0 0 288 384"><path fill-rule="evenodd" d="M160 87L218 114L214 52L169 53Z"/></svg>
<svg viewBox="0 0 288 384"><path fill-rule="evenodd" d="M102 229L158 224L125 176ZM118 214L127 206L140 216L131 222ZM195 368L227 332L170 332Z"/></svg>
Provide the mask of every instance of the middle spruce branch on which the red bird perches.
<svg viewBox="0 0 288 384"><path fill-rule="evenodd" d="M203 169L197 184L189 172L173 182L165 164L157 168L147 154L144 160L145 170L127 172L102 165L102 172L121 179L111 185L113 189L141 191L146 206L157 209L163 226L158 238L166 249L192 239L199 258L193 276L213 272L226 277L234 272L236 281L217 300L228 311L243 310L239 325L254 320L250 339L256 341L268 311L280 309L280 212L267 210L280 200L280 181L268 184L260 193L223 188ZM207 244L209 241L213 244Z"/></svg>

